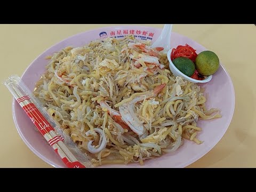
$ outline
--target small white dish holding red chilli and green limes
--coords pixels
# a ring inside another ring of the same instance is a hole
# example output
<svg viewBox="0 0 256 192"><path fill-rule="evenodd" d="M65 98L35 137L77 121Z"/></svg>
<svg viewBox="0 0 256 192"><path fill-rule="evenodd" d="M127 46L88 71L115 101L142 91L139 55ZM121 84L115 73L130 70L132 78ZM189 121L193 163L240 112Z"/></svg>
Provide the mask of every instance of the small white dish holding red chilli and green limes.
<svg viewBox="0 0 256 192"><path fill-rule="evenodd" d="M197 79L190 78L187 75L181 73L181 71L173 65L172 60L171 60L171 53L172 53L172 49L170 49L167 52L167 58L170 62L169 67L170 67L170 70L172 71L173 75L185 78L187 81L192 82L192 83L207 83L207 82L211 81L212 75L206 77L204 80L197 80Z"/></svg>

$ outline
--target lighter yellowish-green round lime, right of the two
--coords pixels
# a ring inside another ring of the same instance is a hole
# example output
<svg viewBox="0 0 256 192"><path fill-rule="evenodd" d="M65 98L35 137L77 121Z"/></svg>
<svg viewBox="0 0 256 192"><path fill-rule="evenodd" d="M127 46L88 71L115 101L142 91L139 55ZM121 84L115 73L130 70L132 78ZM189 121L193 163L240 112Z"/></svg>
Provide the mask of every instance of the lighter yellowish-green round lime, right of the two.
<svg viewBox="0 0 256 192"><path fill-rule="evenodd" d="M195 63L199 74L209 76L218 70L220 60L212 51L202 51L197 55Z"/></svg>

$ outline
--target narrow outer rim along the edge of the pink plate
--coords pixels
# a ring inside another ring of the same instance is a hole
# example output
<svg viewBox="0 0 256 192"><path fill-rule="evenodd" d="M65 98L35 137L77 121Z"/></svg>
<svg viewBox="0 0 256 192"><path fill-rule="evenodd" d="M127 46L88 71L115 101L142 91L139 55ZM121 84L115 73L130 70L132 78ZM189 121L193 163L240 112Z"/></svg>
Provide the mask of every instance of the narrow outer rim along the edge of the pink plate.
<svg viewBox="0 0 256 192"><path fill-rule="evenodd" d="M77 33L77 34L74 34L74 35L71 35L71 36L68 36L66 37L65 39L62 39L61 41L53 44L52 46L50 46L49 48L47 48L45 51L43 51L41 54L39 54L32 62L30 62L30 64L28 65L28 67L24 70L23 74L21 75L21 79L23 78L23 76L26 74L27 70L32 66L32 64L39 58L41 57L42 54L44 54L45 52L47 52L48 50L52 49L52 47L64 42L64 41L67 41L67 39L69 38L73 38L75 36L78 36L78 35L82 35L84 33L89 33L90 31L94 31L94 30L104 30L104 29L118 29L118 28L123 28L123 27L143 27L143 28L148 28L148 29L161 29L161 28L158 28L158 27L149 27L149 26L134 26L134 25L130 25L130 26L127 26L127 25L122 25L122 26L109 26L109 27L101 27L101 28L94 28L94 29L91 29L91 30L86 30L86 31L83 31L81 33ZM176 32L172 32L173 34L178 34L180 36L183 36L183 37L186 37L188 39L191 39L192 41L196 42L194 39L192 38L189 38L185 35L182 35L182 34L179 34L179 33L176 33ZM197 42L196 42L197 43ZM198 43L199 45L203 46L202 44ZM203 46L204 47L204 46ZM204 47L204 49L206 49L206 47ZM178 166L176 167L186 167L188 165L191 165L193 163L195 163L198 159L202 158L204 155L206 155L207 153L209 153L210 150L212 150L218 143L219 141L221 140L221 138L223 138L223 136L225 135L225 133L227 132L228 128L229 128L229 125L233 119L233 116L234 116L234 111L235 111L235 101L236 101L236 97L235 97L235 89L234 89L234 84L232 82L232 79L227 71L227 69L224 67L224 65L222 65L222 63L220 63L220 66L223 68L223 70L225 71L227 77L228 77L228 81L231 85L231 95L233 95L233 98L230 98L231 100L233 100L233 103L232 103L232 106L231 106L231 113L228 117L228 121L226 123L227 127L225 129L222 130L222 133L219 135L219 137L215 140L215 142L212 142L212 144L208 147L206 147L205 149L206 150L203 150L201 153L198 153L197 155L195 155L193 158L189 159L189 161L186 161L182 164L179 164ZM16 116L15 116L15 102L16 100L13 98L13 102L12 102L12 114L13 114L13 121L14 121L14 124L15 124L15 127L21 137L21 139L23 140L23 142L25 142L25 144L27 145L27 147L36 155L38 156L39 158L41 158L45 163L55 167L55 168L62 168L62 166L59 166L58 164L56 163L53 163L50 159L46 158L45 156L41 155L33 146L30 145L30 143L26 140L26 138L24 137L24 135L22 134L22 132L20 131L20 127L17 123L17 119L16 119ZM190 163L189 163L190 162ZM166 167L171 167L171 166L166 166ZM99 167L100 168L100 167Z"/></svg>

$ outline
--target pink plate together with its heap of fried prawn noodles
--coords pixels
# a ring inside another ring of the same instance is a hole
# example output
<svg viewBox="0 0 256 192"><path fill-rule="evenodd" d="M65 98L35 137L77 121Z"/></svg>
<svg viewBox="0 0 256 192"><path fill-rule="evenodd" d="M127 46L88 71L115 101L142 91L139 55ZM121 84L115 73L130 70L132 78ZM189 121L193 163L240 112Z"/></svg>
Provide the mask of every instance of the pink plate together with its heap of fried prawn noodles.
<svg viewBox="0 0 256 192"><path fill-rule="evenodd" d="M174 76L166 53L150 46L161 31L143 26L85 31L50 47L22 75L95 167L186 167L228 129L235 93L225 68L220 65L204 84ZM172 33L171 46L183 44L198 53L207 50ZM33 123L17 102L13 116L38 157L65 167L42 135L29 129Z"/></svg>

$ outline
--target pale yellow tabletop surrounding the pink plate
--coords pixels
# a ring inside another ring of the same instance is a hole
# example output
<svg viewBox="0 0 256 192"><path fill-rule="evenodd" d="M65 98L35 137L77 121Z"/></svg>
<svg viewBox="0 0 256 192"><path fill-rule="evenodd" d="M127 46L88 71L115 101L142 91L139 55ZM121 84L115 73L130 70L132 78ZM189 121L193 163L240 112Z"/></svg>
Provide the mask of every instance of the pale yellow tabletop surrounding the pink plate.
<svg viewBox="0 0 256 192"><path fill-rule="evenodd" d="M1 82L13 74L21 76L39 54L62 39L106 26L110 25L0 25ZM236 94L235 113L224 137L188 167L256 167L256 27L174 25L173 31L214 50L231 76ZM22 141L12 118L11 94L2 84L0 92L0 167L52 167Z"/></svg>

